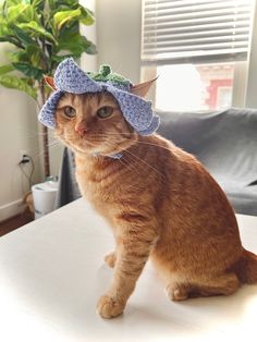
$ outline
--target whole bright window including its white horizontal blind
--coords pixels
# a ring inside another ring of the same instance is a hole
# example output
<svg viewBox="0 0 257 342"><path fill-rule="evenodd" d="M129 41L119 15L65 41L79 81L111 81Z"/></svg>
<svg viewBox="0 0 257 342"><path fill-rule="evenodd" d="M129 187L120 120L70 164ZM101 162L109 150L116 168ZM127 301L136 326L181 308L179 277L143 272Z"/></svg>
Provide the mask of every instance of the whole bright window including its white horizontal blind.
<svg viewBox="0 0 257 342"><path fill-rule="evenodd" d="M156 108L244 106L253 5L254 0L143 1L142 78L159 76L151 93Z"/></svg>

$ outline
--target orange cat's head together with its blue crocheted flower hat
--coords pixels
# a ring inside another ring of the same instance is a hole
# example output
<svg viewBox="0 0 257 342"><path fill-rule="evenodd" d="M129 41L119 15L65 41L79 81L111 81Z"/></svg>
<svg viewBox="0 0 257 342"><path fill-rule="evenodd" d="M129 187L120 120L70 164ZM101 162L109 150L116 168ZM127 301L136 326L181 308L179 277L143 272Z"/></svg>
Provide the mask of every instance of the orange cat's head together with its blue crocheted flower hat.
<svg viewBox="0 0 257 342"><path fill-rule="evenodd" d="M57 68L53 88L39 121L76 152L111 156L126 149L137 134L152 134L159 125L151 102L143 99L155 80L133 86L130 80L102 65L86 73L71 58Z"/></svg>

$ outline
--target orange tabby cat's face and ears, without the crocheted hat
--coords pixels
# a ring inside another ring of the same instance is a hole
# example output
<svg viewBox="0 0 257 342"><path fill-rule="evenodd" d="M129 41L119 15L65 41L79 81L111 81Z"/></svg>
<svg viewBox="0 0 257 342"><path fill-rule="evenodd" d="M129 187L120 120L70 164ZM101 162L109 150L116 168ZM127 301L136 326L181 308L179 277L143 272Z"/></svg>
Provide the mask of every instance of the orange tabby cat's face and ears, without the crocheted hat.
<svg viewBox="0 0 257 342"><path fill-rule="evenodd" d="M151 83L133 86L131 91L143 97ZM75 152L111 156L137 141L136 131L124 119L119 102L108 91L64 93L54 115L57 137Z"/></svg>

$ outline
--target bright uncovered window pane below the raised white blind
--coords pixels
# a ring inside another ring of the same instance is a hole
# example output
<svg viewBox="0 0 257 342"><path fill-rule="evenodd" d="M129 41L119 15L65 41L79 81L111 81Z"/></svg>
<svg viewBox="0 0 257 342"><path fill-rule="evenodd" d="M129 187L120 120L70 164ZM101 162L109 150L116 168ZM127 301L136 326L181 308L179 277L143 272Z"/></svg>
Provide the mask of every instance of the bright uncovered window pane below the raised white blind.
<svg viewBox="0 0 257 342"><path fill-rule="evenodd" d="M232 106L235 63L157 66L156 108L212 110Z"/></svg>

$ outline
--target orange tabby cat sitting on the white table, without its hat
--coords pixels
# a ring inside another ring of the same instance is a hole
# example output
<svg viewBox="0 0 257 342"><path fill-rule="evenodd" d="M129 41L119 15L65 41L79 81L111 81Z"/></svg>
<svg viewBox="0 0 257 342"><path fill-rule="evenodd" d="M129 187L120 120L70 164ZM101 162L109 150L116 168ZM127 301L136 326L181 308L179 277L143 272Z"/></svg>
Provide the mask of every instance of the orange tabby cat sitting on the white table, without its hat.
<svg viewBox="0 0 257 342"><path fill-rule="evenodd" d="M132 91L143 96L149 85ZM149 257L173 301L257 282L257 256L243 248L225 195L193 156L157 134L139 136L108 93L65 94L56 118L57 136L75 152L83 196L114 233L101 317L123 312ZM121 159L109 157L120 151Z"/></svg>

